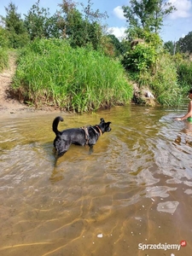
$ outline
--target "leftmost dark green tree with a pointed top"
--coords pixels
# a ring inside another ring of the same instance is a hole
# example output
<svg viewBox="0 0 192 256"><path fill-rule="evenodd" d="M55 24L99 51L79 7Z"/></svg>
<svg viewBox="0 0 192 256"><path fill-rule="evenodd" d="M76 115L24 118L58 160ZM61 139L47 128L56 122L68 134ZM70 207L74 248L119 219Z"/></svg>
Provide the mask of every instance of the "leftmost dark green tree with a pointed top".
<svg viewBox="0 0 192 256"><path fill-rule="evenodd" d="M9 3L5 8L7 15L2 17L5 30L8 32L9 47L18 48L24 46L28 42L28 34L24 26L23 20L17 13L17 8L14 3Z"/></svg>

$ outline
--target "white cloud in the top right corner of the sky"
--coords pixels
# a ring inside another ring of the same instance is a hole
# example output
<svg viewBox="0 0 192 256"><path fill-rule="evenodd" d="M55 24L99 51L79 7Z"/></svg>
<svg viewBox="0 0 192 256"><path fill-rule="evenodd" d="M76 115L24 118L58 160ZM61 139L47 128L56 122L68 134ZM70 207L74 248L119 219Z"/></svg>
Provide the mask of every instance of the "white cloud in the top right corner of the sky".
<svg viewBox="0 0 192 256"><path fill-rule="evenodd" d="M177 11L174 11L170 18L175 20L177 18L187 18L190 16L190 9L192 3L190 0L169 0L169 3L172 3L176 7Z"/></svg>

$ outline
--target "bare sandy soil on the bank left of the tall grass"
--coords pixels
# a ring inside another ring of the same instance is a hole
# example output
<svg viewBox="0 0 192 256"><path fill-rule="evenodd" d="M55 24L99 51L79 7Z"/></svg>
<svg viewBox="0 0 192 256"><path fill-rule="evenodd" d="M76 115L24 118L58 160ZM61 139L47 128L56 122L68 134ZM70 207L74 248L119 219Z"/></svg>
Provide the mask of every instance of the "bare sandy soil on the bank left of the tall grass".
<svg viewBox="0 0 192 256"><path fill-rule="evenodd" d="M15 74L15 55L9 56L9 68L0 73L0 115L7 116L10 114L20 113L44 113L44 112L60 112L58 109L28 107L26 104L20 103L17 99L10 95L10 84Z"/></svg>

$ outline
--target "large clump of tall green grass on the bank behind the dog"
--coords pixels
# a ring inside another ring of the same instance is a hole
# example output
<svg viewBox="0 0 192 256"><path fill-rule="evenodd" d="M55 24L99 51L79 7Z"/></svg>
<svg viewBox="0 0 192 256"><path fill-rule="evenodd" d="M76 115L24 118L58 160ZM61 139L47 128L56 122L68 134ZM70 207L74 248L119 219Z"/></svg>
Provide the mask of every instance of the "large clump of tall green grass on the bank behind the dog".
<svg viewBox="0 0 192 256"><path fill-rule="evenodd" d="M26 102L77 112L130 102L132 87L119 61L65 40L37 40L20 54L13 84Z"/></svg>

